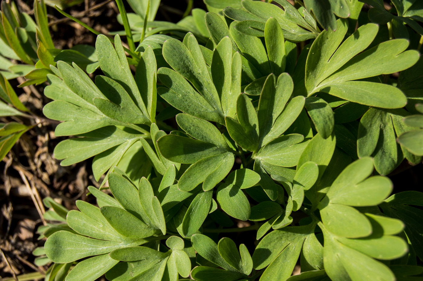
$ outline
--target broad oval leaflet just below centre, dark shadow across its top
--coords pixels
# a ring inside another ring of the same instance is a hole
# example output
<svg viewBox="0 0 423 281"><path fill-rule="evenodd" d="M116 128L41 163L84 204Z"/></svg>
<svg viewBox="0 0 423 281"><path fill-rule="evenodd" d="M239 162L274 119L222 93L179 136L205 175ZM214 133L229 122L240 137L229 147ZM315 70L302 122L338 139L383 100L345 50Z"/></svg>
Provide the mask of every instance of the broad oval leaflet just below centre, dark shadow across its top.
<svg viewBox="0 0 423 281"><path fill-rule="evenodd" d="M224 183L217 189L217 203L229 216L246 221L250 217L251 209L247 196L238 187Z"/></svg>

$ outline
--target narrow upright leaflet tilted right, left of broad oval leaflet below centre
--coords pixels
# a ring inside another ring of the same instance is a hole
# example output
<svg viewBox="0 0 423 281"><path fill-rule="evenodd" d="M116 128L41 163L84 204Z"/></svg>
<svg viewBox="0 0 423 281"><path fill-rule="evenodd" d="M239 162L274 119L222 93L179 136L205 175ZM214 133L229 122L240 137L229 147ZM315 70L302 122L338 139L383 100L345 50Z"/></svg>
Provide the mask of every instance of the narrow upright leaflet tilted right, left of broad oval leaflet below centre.
<svg viewBox="0 0 423 281"><path fill-rule="evenodd" d="M190 237L200 229L206 216L209 214L211 206L212 191L200 192L192 200L187 213L185 213L182 221L182 232L184 237Z"/></svg>

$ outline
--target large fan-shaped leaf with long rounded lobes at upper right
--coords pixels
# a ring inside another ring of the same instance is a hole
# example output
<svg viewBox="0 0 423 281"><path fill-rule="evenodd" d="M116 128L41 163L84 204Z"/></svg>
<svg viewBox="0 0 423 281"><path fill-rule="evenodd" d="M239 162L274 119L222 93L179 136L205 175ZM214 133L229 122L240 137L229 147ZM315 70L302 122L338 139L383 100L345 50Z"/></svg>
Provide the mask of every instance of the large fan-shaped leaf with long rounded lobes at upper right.
<svg viewBox="0 0 423 281"><path fill-rule="evenodd" d="M404 39L383 42L362 52L375 38L378 26L363 25L341 44L348 22L338 19L337 23L336 32L323 31L310 48L305 71L308 95L321 91L368 106L403 107L406 99L397 88L352 80L407 69L417 62L417 53L411 50L404 52L408 46ZM373 63L369 65L368 61ZM360 95L355 94L357 89Z"/></svg>

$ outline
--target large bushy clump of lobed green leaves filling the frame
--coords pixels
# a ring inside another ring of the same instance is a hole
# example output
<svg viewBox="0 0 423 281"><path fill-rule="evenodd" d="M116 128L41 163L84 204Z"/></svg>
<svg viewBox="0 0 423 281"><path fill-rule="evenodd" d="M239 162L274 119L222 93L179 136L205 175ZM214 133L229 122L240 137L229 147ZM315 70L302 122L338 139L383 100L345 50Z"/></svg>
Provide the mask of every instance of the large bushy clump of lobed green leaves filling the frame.
<svg viewBox="0 0 423 281"><path fill-rule="evenodd" d="M79 136L56 154L64 165L95 156L97 178L110 169L113 195L91 187L100 208L77 202L80 211L62 210L66 226L46 235L56 267L81 260L66 280L394 280L410 266L420 270L406 255L410 247L422 257L413 227L420 224L406 214L421 213L412 207L421 195L388 198L392 183L374 172L387 174L404 157L421 162L404 139L395 142L410 125L401 109L408 97L379 80L414 65L418 53L402 39L375 42L374 24L348 36L339 19L337 31L316 34L297 61L281 24L293 20L287 10L280 18L261 13L263 20L254 13L277 7L248 3L255 4L225 9L238 13L226 19L240 19L228 25L205 15L213 23L206 46L188 33L163 40L159 54L146 48L135 78L118 36L115 48L98 37L105 76L95 82L77 65L52 68L46 95L55 101L46 115L65 121L58 134ZM262 22L263 32L246 34L252 28L243 29L242 16ZM166 64L157 69L160 58ZM57 101L66 110L54 109ZM374 111L383 116L376 128L365 123ZM91 127L69 125L88 114ZM375 130L381 137L366 139ZM298 213L305 218L294 220ZM253 225L231 229L231 218ZM210 238L247 230L257 231L255 249ZM303 273L291 277L298 260Z"/></svg>

